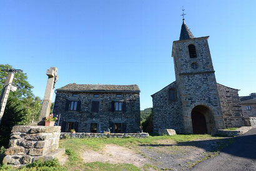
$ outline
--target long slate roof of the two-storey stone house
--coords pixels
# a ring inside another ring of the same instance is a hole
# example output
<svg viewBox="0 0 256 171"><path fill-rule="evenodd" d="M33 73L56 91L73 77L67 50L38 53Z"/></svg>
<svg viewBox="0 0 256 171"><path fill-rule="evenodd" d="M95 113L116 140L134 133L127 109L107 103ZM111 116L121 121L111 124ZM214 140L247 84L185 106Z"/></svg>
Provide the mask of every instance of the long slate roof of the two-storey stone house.
<svg viewBox="0 0 256 171"><path fill-rule="evenodd" d="M83 91L83 92L140 92L139 86L134 85L101 85L101 84L67 84L57 91Z"/></svg>

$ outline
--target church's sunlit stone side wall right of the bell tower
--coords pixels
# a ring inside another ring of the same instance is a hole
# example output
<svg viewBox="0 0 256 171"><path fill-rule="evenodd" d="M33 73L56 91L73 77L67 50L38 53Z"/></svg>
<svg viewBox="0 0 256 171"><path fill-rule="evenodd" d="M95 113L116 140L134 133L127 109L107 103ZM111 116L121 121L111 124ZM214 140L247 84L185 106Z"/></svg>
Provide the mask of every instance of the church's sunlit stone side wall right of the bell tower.
<svg viewBox="0 0 256 171"><path fill-rule="evenodd" d="M227 128L244 126L244 117L238 94L239 90L221 84L217 85L225 126Z"/></svg>

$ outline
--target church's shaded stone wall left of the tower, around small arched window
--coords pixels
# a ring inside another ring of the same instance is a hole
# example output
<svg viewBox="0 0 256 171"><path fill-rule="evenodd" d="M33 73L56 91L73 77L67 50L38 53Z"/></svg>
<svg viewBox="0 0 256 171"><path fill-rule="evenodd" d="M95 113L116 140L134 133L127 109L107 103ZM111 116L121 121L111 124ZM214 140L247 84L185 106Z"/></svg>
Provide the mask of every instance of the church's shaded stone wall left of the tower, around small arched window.
<svg viewBox="0 0 256 171"><path fill-rule="evenodd" d="M179 96L175 101L169 100L169 89L175 89L177 85L173 82L164 89L152 95L153 100L153 131L160 129L174 129L178 133L183 132L183 117L181 115Z"/></svg>

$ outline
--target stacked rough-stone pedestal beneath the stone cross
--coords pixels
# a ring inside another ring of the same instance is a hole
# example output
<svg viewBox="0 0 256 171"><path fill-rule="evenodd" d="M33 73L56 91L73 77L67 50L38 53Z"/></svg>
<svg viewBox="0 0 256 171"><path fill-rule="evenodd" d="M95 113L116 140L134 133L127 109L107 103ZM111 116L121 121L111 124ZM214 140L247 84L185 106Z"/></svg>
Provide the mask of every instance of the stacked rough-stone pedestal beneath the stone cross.
<svg viewBox="0 0 256 171"><path fill-rule="evenodd" d="M16 125L2 163L20 166L42 159L58 149L60 134L61 127Z"/></svg>

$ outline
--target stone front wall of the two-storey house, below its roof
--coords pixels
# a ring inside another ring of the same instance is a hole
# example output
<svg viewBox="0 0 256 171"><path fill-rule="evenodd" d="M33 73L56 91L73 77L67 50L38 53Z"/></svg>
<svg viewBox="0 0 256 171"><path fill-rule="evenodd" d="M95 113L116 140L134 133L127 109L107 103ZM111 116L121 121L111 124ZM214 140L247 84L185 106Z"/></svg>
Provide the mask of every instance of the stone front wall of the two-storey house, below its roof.
<svg viewBox="0 0 256 171"><path fill-rule="evenodd" d="M72 94L77 95L74 97ZM95 94L99 97L94 97ZM117 94L121 97L117 97ZM67 100L79 102L79 110L68 110ZM99 101L99 112L92 112L92 101ZM126 103L126 109L115 112L112 110L113 101ZM59 125L62 126L62 132L67 132L68 122L74 122L76 132L91 132L92 123L97 124L98 133L113 128L114 123L121 123L126 132L139 132L140 96L139 92L57 91L54 114L61 115Z"/></svg>

